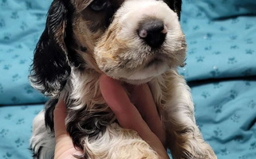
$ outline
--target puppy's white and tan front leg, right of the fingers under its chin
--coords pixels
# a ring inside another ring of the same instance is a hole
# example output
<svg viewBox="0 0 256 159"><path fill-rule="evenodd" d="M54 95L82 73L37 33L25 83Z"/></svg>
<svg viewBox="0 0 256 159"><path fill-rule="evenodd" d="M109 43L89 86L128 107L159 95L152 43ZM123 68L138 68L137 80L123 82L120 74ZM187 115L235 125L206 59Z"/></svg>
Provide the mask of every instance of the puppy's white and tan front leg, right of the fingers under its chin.
<svg viewBox="0 0 256 159"><path fill-rule="evenodd" d="M194 104L186 81L176 71L167 72L162 77L160 104L172 156L175 159L217 158L195 124Z"/></svg>

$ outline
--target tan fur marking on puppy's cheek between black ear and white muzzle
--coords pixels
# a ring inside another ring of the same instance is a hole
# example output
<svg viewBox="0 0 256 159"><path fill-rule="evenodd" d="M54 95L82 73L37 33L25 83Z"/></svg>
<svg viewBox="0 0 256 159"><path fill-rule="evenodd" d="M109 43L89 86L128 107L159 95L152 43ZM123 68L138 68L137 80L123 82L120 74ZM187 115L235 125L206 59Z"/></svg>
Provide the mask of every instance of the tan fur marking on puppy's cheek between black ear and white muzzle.
<svg viewBox="0 0 256 159"><path fill-rule="evenodd" d="M95 12L89 8L89 4L93 1L89 0L73 0L73 5L77 8L73 20L73 32L77 41L77 45L87 48L86 52L78 52L85 63L90 65L90 68L100 70L95 62L94 48L100 37L104 34L104 22L106 13ZM115 7L120 6L120 0L109 0ZM101 72L101 71L100 71Z"/></svg>

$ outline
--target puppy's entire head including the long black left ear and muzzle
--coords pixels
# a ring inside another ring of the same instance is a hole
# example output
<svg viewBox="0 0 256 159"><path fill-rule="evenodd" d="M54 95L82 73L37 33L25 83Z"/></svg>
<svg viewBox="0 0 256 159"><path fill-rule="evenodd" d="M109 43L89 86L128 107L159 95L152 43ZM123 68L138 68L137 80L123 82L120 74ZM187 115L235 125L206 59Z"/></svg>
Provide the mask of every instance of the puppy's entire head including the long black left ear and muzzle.
<svg viewBox="0 0 256 159"><path fill-rule="evenodd" d="M74 68L144 83L183 64L181 0L53 0L30 81L55 96Z"/></svg>

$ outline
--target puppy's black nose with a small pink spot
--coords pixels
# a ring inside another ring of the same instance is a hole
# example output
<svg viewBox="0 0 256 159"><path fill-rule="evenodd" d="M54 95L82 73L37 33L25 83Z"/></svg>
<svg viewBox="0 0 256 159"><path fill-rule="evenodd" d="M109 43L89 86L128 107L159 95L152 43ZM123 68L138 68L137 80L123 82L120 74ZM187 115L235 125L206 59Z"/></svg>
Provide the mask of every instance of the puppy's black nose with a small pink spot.
<svg viewBox="0 0 256 159"><path fill-rule="evenodd" d="M167 28L163 21L151 19L144 21L138 29L139 36L146 41L148 45L153 48L160 47L165 40Z"/></svg>

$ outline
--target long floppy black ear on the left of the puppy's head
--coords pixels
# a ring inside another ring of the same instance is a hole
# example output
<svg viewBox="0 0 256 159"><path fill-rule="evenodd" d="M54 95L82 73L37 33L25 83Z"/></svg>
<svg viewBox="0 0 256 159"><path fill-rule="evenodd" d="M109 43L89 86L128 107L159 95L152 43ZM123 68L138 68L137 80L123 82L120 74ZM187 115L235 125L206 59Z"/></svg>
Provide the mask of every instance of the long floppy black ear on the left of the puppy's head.
<svg viewBox="0 0 256 159"><path fill-rule="evenodd" d="M54 0L48 11L45 30L34 51L30 81L44 95L57 95L71 72L65 45L67 14L63 1Z"/></svg>

